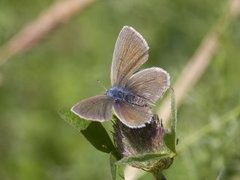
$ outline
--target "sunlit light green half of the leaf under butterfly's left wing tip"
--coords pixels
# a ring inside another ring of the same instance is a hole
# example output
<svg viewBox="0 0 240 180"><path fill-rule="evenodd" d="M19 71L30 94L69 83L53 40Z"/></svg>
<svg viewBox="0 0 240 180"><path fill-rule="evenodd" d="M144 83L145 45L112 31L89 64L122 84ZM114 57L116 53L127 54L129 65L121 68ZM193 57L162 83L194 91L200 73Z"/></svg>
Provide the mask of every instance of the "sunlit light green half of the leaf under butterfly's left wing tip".
<svg viewBox="0 0 240 180"><path fill-rule="evenodd" d="M89 124L91 124L91 121L80 119L78 116L73 114L70 109L63 108L58 112L58 114L64 121L69 123L73 128L78 131L86 129Z"/></svg>

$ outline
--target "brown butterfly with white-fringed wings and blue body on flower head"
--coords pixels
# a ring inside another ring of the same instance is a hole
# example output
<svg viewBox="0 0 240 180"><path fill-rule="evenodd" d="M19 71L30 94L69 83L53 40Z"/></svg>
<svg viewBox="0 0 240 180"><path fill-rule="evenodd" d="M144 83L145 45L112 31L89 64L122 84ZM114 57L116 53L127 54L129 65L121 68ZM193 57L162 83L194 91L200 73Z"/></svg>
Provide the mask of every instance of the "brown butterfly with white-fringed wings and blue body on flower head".
<svg viewBox="0 0 240 180"><path fill-rule="evenodd" d="M148 60L148 50L142 35L124 26L113 52L112 87L102 95L80 101L71 111L80 118L99 122L111 120L114 112L130 128L149 123L153 117L151 107L169 88L170 76L159 67L136 72Z"/></svg>

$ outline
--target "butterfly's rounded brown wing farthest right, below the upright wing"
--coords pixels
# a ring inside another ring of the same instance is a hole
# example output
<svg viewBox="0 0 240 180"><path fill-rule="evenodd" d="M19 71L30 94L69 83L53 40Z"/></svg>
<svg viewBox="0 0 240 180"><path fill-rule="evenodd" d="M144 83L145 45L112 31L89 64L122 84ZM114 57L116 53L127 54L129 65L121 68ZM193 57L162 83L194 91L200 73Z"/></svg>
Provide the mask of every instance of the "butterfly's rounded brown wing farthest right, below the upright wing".
<svg viewBox="0 0 240 180"><path fill-rule="evenodd" d="M169 74L157 67L141 70L134 74L126 84L132 93L156 102L170 86Z"/></svg>

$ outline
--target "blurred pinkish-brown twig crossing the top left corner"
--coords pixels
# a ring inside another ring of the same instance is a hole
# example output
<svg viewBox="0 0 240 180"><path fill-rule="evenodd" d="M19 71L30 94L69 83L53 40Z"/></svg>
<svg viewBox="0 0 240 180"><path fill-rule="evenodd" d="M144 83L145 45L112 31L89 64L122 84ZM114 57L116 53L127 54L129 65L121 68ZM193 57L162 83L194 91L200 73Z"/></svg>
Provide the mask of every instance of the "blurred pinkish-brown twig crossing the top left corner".
<svg viewBox="0 0 240 180"><path fill-rule="evenodd" d="M59 24L91 4L94 0L57 0L37 19L24 26L6 44L0 47L0 65L10 57L31 49Z"/></svg>

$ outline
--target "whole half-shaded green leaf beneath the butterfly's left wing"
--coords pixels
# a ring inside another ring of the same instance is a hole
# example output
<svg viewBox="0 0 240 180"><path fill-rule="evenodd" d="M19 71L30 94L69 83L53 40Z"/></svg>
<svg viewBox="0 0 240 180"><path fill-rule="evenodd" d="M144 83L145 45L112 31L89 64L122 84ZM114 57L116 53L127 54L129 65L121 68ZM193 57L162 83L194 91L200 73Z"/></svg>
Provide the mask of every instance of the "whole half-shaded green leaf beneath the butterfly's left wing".
<svg viewBox="0 0 240 180"><path fill-rule="evenodd" d="M99 151L105 153L116 151L112 140L101 123L80 119L78 116L73 114L70 109L62 109L59 111L59 114L62 119L80 131L84 137Z"/></svg>

